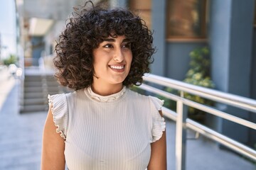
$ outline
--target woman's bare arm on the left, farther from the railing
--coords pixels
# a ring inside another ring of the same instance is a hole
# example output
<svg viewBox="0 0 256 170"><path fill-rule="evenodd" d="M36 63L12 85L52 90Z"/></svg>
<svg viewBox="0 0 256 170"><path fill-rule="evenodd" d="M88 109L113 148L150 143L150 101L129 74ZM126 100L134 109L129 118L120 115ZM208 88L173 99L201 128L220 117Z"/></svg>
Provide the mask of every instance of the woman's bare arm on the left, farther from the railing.
<svg viewBox="0 0 256 170"><path fill-rule="evenodd" d="M43 148L41 159L41 170L64 170L65 142L60 134L56 132L56 126L53 122L53 114L50 106L46 118L46 124L43 129Z"/></svg>

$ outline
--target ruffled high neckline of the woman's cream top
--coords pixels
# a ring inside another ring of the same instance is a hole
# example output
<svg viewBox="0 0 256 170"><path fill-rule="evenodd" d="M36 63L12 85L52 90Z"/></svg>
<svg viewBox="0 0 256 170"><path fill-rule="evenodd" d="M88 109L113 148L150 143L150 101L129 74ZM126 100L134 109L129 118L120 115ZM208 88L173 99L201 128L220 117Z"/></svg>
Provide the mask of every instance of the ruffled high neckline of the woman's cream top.
<svg viewBox="0 0 256 170"><path fill-rule="evenodd" d="M91 86L85 89L85 92L87 92L88 96L90 96L92 100L100 101L103 103L110 103L112 101L117 101L121 96L123 96L125 91L126 91L126 86L123 86L122 90L117 92L116 94L111 94L109 96L101 96L99 94L95 94L95 92L92 91Z"/></svg>

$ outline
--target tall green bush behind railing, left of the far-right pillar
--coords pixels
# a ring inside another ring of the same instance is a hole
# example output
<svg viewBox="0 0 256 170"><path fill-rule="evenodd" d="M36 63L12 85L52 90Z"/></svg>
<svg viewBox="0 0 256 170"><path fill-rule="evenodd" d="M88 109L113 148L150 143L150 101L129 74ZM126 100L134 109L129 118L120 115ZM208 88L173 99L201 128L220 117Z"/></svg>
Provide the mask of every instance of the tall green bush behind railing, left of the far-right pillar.
<svg viewBox="0 0 256 170"><path fill-rule="evenodd" d="M188 69L186 78L183 81L188 84L213 89L215 84L213 80L210 79L210 56L208 47L197 48L191 51L189 55L191 57L191 62L189 63L190 69ZM208 106L214 105L213 101L200 96L184 93L184 97ZM188 107L188 117L197 119L196 117L204 117L204 115L205 113L203 111Z"/></svg>

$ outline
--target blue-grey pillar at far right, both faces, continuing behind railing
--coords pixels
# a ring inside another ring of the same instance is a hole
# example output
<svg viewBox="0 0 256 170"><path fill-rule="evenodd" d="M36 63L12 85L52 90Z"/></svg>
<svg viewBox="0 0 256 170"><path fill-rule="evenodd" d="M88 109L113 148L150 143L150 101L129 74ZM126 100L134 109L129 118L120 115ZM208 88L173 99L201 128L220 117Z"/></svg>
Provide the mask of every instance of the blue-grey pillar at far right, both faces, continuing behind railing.
<svg viewBox="0 0 256 170"><path fill-rule="evenodd" d="M254 0L210 1L210 52L212 77L220 91L250 97L250 62L252 60L252 20ZM247 111L226 107L225 111L248 119ZM247 143L248 128L227 120L221 131L235 140Z"/></svg>

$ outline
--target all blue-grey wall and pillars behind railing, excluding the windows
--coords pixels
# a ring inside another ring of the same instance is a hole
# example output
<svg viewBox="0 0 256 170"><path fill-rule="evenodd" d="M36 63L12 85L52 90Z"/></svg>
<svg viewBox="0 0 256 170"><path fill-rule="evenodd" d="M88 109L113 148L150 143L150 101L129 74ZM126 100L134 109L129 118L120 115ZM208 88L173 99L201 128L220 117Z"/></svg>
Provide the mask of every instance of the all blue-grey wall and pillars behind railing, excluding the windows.
<svg viewBox="0 0 256 170"><path fill-rule="evenodd" d="M208 45L216 89L256 98L256 35L252 38L255 0L246 3L240 0L215 0L209 3L208 42L166 42L166 1L152 0L151 21L157 52L151 71L153 74L183 80L189 68L189 52ZM220 107L245 120L256 119L255 113L228 106ZM252 138L256 138L252 137L252 130L236 123L213 116L207 122L215 130L243 143L252 143ZM255 139L253 141L256 142Z"/></svg>

